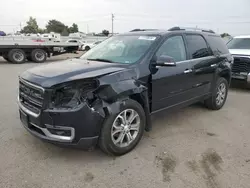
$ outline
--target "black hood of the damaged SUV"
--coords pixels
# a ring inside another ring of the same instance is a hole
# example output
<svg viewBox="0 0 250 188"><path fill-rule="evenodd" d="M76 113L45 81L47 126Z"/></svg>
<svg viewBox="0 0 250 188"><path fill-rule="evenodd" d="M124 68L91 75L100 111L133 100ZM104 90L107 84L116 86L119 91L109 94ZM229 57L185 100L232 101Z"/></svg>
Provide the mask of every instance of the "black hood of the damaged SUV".
<svg viewBox="0 0 250 188"><path fill-rule="evenodd" d="M117 63L70 59L28 69L20 77L33 84L49 88L56 84L98 77L123 69L125 69L124 65Z"/></svg>

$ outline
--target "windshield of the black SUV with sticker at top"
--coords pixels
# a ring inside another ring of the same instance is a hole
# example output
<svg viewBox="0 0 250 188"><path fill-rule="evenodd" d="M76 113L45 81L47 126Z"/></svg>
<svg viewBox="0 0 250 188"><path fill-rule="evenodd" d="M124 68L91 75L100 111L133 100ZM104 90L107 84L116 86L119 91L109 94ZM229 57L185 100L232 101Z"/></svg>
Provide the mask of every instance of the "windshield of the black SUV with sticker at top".
<svg viewBox="0 0 250 188"><path fill-rule="evenodd" d="M113 36L89 50L81 58L132 64L154 43L157 36Z"/></svg>

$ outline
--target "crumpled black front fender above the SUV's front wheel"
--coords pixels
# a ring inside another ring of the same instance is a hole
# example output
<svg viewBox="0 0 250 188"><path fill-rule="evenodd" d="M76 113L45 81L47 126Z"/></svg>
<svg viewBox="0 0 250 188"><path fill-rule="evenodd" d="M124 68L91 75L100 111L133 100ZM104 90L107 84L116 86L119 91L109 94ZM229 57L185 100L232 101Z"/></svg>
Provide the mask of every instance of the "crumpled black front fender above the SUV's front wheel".
<svg viewBox="0 0 250 188"><path fill-rule="evenodd" d="M148 88L141 81L136 79L117 79L130 77L133 78L132 74L134 71L122 72L122 77L116 73L110 77L106 76L104 79L99 78L100 86L95 91L95 96L99 99L101 104L95 105L95 109L98 111L105 112L105 116L120 112L121 106L123 106L127 99L131 98L140 103L144 109L146 117L146 131L151 130L152 124L150 119L149 99L148 99ZM112 79L113 82L106 84L105 79ZM103 113L102 113L103 114ZM104 115L103 114L103 115Z"/></svg>

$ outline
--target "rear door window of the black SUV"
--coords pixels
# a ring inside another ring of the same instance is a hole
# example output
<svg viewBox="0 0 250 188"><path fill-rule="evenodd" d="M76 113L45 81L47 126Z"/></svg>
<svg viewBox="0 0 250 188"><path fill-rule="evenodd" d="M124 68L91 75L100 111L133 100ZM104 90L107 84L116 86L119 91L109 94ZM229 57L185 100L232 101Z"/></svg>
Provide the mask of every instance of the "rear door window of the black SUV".
<svg viewBox="0 0 250 188"><path fill-rule="evenodd" d="M193 59L209 56L207 43L200 35L187 35L188 50Z"/></svg>

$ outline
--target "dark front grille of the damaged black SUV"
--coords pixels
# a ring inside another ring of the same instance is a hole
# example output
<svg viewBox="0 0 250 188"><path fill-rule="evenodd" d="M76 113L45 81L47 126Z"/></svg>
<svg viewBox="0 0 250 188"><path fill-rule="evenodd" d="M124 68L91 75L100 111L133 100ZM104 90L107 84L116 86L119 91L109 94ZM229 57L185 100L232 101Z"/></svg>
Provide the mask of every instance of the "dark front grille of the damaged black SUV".
<svg viewBox="0 0 250 188"><path fill-rule="evenodd" d="M19 80L19 101L35 114L39 114L43 107L44 90L29 82Z"/></svg>

